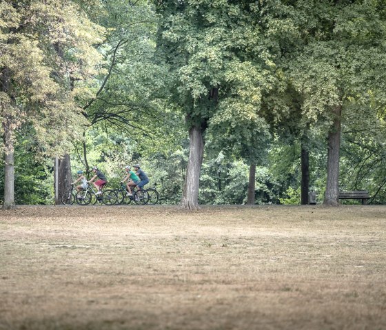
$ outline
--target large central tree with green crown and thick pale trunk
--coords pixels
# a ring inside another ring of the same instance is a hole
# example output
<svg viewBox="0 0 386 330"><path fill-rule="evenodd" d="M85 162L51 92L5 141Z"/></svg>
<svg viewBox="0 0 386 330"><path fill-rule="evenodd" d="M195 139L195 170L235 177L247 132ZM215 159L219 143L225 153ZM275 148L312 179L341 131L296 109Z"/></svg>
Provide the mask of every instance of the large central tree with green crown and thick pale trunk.
<svg viewBox="0 0 386 330"><path fill-rule="evenodd" d="M256 1L156 1L156 6L157 47L169 65L172 101L185 114L190 136L181 205L195 209L207 127L221 118L221 125L254 120L262 90L271 85L274 55L260 31L256 13L265 13Z"/></svg>

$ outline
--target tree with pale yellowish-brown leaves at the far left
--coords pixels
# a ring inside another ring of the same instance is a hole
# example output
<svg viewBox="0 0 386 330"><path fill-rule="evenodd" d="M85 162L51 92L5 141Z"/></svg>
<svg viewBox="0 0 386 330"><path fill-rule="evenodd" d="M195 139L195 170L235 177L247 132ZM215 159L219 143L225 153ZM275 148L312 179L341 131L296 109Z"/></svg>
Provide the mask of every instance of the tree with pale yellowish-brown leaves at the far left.
<svg viewBox="0 0 386 330"><path fill-rule="evenodd" d="M61 14L59 14L61 13ZM103 32L72 1L0 3L0 117L5 148L4 208L14 207L14 132L24 123L44 154L61 154L85 122L72 79L94 74L92 43ZM61 45L60 56L57 45ZM78 70L79 63L83 70ZM58 134L60 132L61 134Z"/></svg>

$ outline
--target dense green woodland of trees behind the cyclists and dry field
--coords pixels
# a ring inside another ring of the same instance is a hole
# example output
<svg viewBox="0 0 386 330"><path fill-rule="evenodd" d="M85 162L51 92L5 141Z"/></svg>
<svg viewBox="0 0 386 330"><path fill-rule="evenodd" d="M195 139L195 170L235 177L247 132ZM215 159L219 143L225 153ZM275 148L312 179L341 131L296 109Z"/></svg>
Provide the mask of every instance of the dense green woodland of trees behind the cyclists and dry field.
<svg viewBox="0 0 386 330"><path fill-rule="evenodd" d="M141 163L189 208L383 204L385 37L380 0L1 1L0 194Z"/></svg>

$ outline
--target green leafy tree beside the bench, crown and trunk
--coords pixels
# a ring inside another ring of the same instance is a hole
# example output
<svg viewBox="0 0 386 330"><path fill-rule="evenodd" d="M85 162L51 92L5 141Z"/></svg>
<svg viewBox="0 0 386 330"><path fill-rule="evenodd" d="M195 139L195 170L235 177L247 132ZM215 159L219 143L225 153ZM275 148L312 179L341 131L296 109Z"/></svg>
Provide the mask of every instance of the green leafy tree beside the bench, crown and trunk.
<svg viewBox="0 0 386 330"><path fill-rule="evenodd" d="M385 102L385 76L374 74L374 67L385 72L385 7L383 1L296 1L295 8L305 43L292 56L292 77L303 114L330 125L324 203L338 205L342 120L360 109L349 107L353 101L365 105L376 94Z"/></svg>

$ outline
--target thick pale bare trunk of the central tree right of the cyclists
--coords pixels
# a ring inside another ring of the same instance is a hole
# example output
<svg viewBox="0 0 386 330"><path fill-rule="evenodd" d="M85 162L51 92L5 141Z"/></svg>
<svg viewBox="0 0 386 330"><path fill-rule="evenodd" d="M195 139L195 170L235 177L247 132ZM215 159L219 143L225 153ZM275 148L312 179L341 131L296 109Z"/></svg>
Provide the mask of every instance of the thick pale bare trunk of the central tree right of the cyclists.
<svg viewBox="0 0 386 330"><path fill-rule="evenodd" d="M201 127L194 126L189 130L189 140L189 160L187 161L181 207L185 209L198 209L199 181L204 151L203 132Z"/></svg>

